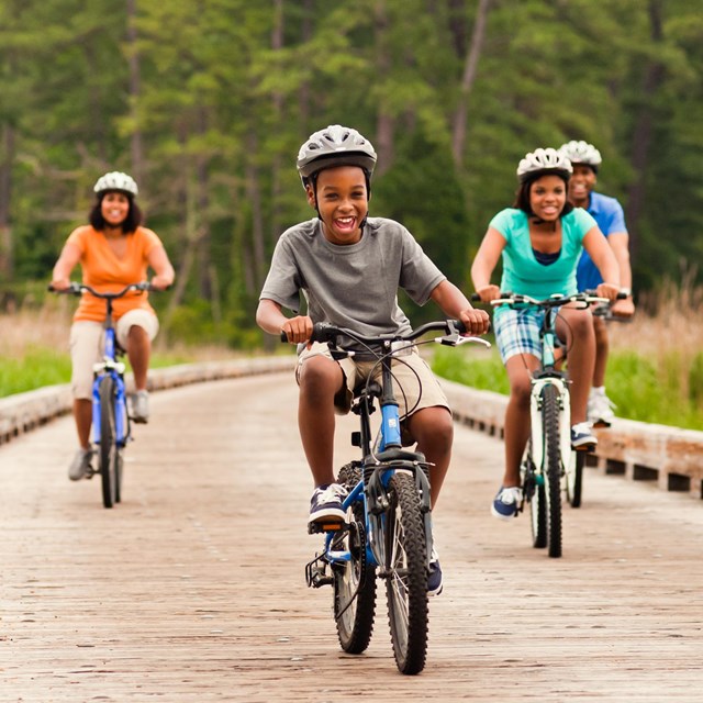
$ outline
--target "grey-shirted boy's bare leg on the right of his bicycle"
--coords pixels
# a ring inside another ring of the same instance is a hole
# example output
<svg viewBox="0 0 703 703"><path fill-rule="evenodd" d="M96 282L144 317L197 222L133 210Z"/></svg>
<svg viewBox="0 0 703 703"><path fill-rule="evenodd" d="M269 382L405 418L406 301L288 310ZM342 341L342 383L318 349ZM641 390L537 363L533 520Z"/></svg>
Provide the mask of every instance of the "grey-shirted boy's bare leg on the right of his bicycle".
<svg viewBox="0 0 703 703"><path fill-rule="evenodd" d="M429 495L434 510L451 459L451 415L440 405L423 408L410 416L408 428L417 442L417 451L422 451L427 461L434 465L429 467Z"/></svg>

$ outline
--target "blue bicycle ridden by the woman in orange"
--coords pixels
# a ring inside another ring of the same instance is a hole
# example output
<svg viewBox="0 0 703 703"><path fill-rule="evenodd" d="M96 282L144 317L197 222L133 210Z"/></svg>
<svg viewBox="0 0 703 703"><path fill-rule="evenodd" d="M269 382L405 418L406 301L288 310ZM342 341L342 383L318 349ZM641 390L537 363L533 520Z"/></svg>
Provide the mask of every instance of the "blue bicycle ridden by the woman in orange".
<svg viewBox="0 0 703 703"><path fill-rule="evenodd" d="M102 361L93 366L92 383L92 442L98 454L99 469L92 467L86 478L100 473L102 479L102 504L112 507L122 500L122 453L127 442L132 439L131 423L127 413L126 387L124 382L124 362L119 358L124 349L116 341L114 322L112 319L112 303L130 291L152 291L148 282L130 283L121 291L101 293L85 283L71 282L66 290L49 290L69 295L82 295L85 292L105 301L104 348Z"/></svg>

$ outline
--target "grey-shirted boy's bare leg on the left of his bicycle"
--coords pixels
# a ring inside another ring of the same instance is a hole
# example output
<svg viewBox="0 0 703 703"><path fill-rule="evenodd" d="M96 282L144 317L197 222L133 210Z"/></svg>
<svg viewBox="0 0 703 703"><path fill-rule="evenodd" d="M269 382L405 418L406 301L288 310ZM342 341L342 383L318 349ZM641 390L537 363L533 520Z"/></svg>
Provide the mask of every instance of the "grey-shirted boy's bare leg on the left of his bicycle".
<svg viewBox="0 0 703 703"><path fill-rule="evenodd" d="M315 486L334 483L334 397L344 373L336 361L313 356L299 376L298 427Z"/></svg>

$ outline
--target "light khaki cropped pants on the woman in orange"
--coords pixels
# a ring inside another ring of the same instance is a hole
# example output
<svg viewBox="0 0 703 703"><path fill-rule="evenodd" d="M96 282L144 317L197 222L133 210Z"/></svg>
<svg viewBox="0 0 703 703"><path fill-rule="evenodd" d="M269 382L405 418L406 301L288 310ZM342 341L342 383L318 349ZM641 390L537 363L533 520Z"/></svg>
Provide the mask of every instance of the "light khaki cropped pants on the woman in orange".
<svg viewBox="0 0 703 703"><path fill-rule="evenodd" d="M125 349L130 327L143 327L149 339L158 333L158 320L148 310L130 310L115 325L118 344ZM92 366L102 360L104 330L101 322L79 320L70 327L70 390L76 399L92 398Z"/></svg>

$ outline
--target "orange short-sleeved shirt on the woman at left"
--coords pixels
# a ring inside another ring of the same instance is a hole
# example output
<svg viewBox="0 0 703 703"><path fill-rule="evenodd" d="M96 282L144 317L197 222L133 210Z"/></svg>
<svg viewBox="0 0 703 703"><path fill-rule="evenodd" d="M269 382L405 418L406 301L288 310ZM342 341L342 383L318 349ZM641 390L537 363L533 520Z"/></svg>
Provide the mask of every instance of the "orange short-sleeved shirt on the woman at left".
<svg viewBox="0 0 703 703"><path fill-rule="evenodd" d="M74 230L68 236L67 244L72 244L80 250L80 265L83 272L83 283L101 293L120 291L130 283L146 281L148 256L157 247L163 246L158 236L146 227L137 227L132 234L125 235L126 253L118 257L110 248L105 235L90 225ZM149 310L146 291L130 291L124 298L118 298L112 303L112 313L119 320L129 310ZM74 315L74 320L92 320L103 322L105 319L105 301L90 293L83 293Z"/></svg>

